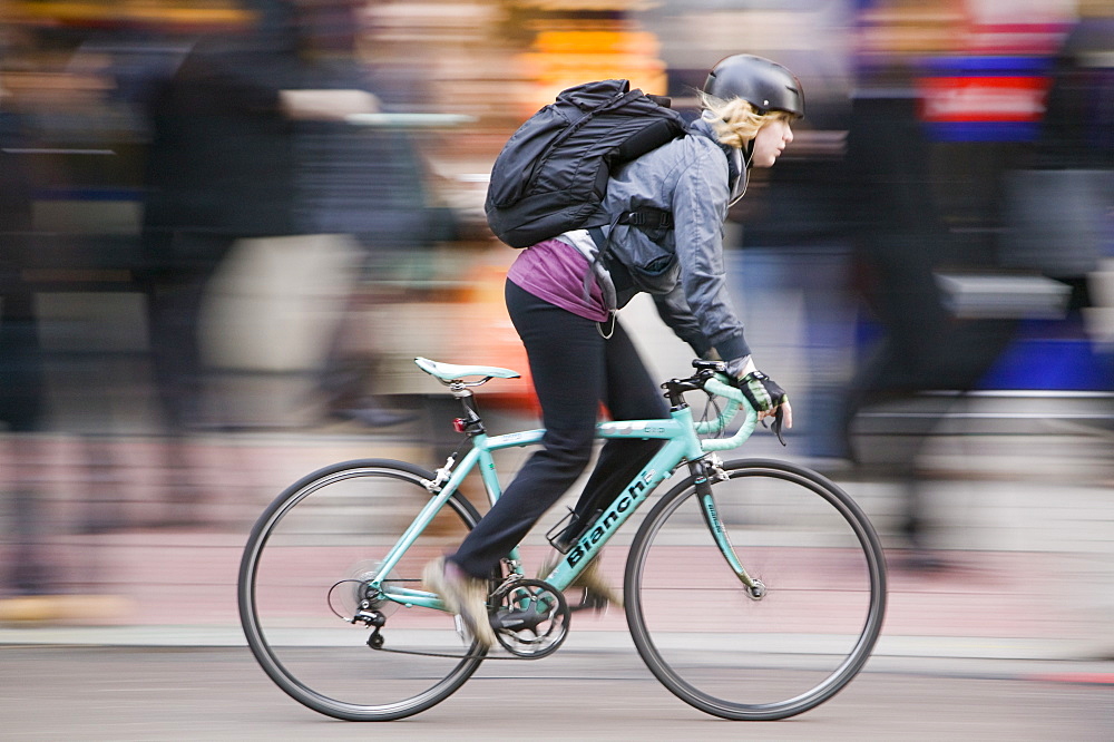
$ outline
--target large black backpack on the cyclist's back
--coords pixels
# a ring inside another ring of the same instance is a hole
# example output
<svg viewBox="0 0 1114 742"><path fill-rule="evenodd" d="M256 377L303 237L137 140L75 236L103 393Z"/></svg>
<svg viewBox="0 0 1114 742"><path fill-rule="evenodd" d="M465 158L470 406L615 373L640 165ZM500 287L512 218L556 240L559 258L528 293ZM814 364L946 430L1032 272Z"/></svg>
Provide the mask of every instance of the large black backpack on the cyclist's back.
<svg viewBox="0 0 1114 742"><path fill-rule="evenodd" d="M631 90L627 80L568 88L522 124L496 158L483 205L488 225L511 247L613 221L672 226L668 212L608 215L600 202L613 167L684 131L668 99Z"/></svg>

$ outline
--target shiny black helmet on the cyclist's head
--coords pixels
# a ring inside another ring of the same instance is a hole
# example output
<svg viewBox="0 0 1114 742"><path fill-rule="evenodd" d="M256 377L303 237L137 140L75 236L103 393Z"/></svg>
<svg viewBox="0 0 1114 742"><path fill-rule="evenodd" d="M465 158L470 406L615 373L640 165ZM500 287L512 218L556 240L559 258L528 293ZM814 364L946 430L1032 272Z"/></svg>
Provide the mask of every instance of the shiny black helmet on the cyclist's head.
<svg viewBox="0 0 1114 742"><path fill-rule="evenodd" d="M704 92L721 100L742 98L760 114L783 110L804 116L801 81L775 61L754 55L732 55L720 60L704 81Z"/></svg>

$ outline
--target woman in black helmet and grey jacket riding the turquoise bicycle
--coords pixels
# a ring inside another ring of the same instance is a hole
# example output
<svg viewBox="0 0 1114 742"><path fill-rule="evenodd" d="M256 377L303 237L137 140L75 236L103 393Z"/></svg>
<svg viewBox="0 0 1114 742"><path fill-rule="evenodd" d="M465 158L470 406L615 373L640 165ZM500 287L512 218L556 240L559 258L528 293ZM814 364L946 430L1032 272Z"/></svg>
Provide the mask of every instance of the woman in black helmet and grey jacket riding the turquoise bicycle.
<svg viewBox="0 0 1114 742"><path fill-rule="evenodd" d="M723 223L746 189L751 167L772 167L804 115L800 81L752 55L719 62L701 90L702 114L686 135L612 174L604 209L656 208L671 228L614 224L577 230L519 254L506 300L529 358L546 432L502 497L455 554L427 565L424 582L461 616L481 646L495 642L487 617L487 577L587 467L599 406L614 420L668 417L657 384L614 314L639 291L697 355L723 360L759 417L792 427L785 392L755 369L727 294ZM600 250L605 246L605 250ZM600 270L603 269L603 270ZM587 287L587 289L586 289ZM614 296L615 306L605 300ZM575 543L661 446L609 440L559 541ZM597 563L577 585L618 603Z"/></svg>

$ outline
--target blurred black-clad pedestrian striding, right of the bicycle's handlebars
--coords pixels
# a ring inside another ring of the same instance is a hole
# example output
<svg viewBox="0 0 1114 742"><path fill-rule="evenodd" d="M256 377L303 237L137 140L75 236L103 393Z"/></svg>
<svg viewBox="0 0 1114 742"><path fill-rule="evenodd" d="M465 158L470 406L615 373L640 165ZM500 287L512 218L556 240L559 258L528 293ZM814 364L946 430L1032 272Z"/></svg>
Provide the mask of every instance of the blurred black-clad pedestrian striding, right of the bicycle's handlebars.
<svg viewBox="0 0 1114 742"><path fill-rule="evenodd" d="M856 208L856 283L877 338L864 345L847 396L850 430L868 408L924 400L924 392L973 390L1013 338L1012 320L965 320L949 307L938 274L945 269L994 267L980 263L946 226L932 164L932 143L919 117L913 69L889 60L869 69L852 100L848 135L848 187ZM920 455L955 397L932 398L934 422L909 418L878 446L857 437L859 462L887 466L906 487L901 531L910 564L934 566L928 501ZM958 398L962 402L962 397Z"/></svg>

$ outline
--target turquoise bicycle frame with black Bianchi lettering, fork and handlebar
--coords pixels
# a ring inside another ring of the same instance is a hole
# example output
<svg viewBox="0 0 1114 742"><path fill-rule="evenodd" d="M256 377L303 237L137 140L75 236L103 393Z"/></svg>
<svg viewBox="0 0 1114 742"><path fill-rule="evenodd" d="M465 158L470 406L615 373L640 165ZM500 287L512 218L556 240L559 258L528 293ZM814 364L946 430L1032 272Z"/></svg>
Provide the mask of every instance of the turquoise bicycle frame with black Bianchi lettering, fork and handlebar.
<svg viewBox="0 0 1114 742"><path fill-rule="evenodd" d="M672 477L677 467L683 462L688 462L694 475L703 475L705 457L709 452L735 448L750 437L758 422L758 416L749 408L746 409L745 421L731 438L702 440L698 437L698 433L716 432L725 429L741 407L741 396L733 387L711 379L706 382L705 389L731 400L716 420L696 422L693 419L692 409L687 404L681 403L675 404L671 409L670 418L667 419L624 420L600 422L597 424L597 439L661 439L665 441L665 445L624 487L622 494L615 498L608 509L584 531L585 535L564 555L565 558L557 563L553 572L545 577L547 583L557 589L566 589L592 560L590 557L595 556L607 544L615 531L646 501L657 486ZM471 449L463 456L460 462L453 467L450 459L446 468L439 470L437 479L426 482L427 488L433 494L433 497L424 505L413 523L410 524L387 554L379 566L378 576L370 580L369 587L378 590L382 597L407 607L418 606L446 611L441 599L432 593L384 585L387 576L430 521L432 521L437 512L448 502L449 498L457 491L473 468L479 466L483 487L487 490L491 505L495 505L502 494L502 488L499 484L492 453L508 448L540 445L544 435L544 429L501 436L488 436L482 431L471 433ZM439 484L441 477L449 470L451 470L451 473L448 475L448 479L443 484ZM732 569L734 569L740 580L749 588L753 588L750 576L740 564L726 537L726 533L720 524L706 476L697 479L697 494L702 499L702 511L705 521L712 531L716 545L723 551L724 558L731 565ZM514 549L508 557L511 560L512 570L521 574L518 549Z"/></svg>

